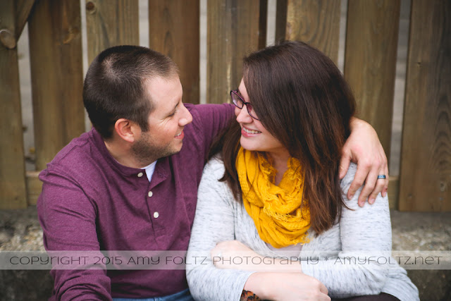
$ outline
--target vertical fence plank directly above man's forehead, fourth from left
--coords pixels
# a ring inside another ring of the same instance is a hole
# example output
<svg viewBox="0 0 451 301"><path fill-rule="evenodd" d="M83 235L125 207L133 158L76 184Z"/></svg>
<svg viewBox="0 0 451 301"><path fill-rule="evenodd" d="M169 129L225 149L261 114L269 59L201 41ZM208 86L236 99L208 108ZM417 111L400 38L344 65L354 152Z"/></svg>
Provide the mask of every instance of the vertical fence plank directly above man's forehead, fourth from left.
<svg viewBox="0 0 451 301"><path fill-rule="evenodd" d="M199 0L149 0L149 46L180 68L183 101L199 104Z"/></svg>

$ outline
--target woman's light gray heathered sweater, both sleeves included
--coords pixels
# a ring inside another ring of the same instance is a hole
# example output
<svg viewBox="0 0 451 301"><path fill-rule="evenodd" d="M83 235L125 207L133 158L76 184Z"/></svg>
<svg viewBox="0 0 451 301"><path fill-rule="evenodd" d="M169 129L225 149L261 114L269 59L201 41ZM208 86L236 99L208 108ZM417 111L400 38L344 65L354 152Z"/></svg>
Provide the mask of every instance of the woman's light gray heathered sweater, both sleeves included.
<svg viewBox="0 0 451 301"><path fill-rule="evenodd" d="M341 181L345 194L356 171L357 166L351 164ZM218 242L239 240L262 256L287 256L271 250L259 238L242 202L234 199L225 182L218 181L223 173L223 162L211 159L199 185L187 254L187 280L195 300L240 300L247 278L253 273L216 269L209 252ZM419 300L418 290L406 271L395 259L386 264L392 242L388 198L379 194L373 205L361 208L357 204L360 191L349 201L343 195L352 210L343 208L339 223L317 237L309 231L310 242L302 245L300 254L297 252L297 257L302 259L302 272L326 285L330 297L383 292L402 301ZM375 256L370 258L371 255ZM200 260L203 256L208 258Z"/></svg>

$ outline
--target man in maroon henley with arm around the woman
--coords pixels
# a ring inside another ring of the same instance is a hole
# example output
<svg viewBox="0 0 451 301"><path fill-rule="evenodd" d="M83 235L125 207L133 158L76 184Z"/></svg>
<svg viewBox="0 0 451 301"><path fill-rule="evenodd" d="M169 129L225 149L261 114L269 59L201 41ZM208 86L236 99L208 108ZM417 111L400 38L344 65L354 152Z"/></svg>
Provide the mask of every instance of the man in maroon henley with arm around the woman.
<svg viewBox="0 0 451 301"><path fill-rule="evenodd" d="M94 129L64 147L39 176L47 250L187 250L204 159L234 107L183 104L182 94L177 66L156 51L112 47L94 59L83 88ZM364 168L354 184L357 190L366 178L371 200L386 193L386 180L373 190L377 174L387 174L385 154L371 127L353 123L341 173L363 146L375 145L369 150L376 155L356 160L381 164L359 164ZM53 300L190 300L183 269L51 274Z"/></svg>

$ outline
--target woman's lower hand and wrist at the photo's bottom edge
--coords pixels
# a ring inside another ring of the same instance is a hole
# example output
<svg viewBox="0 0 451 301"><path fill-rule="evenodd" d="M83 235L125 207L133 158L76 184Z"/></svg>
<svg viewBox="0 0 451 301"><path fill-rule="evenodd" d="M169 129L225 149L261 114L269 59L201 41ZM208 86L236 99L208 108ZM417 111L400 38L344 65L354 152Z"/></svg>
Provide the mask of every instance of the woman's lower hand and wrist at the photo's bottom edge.
<svg viewBox="0 0 451 301"><path fill-rule="evenodd" d="M330 301L326 286L302 273L254 273L244 289L266 300Z"/></svg>

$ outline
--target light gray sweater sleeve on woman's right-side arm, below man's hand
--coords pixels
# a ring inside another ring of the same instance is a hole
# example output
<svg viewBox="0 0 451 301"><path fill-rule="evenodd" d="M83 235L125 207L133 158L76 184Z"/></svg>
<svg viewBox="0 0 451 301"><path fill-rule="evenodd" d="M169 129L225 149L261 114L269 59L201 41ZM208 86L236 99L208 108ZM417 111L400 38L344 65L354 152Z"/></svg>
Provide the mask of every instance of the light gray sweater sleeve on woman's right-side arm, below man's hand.
<svg viewBox="0 0 451 301"><path fill-rule="evenodd" d="M388 197L381 194L374 204L359 207L360 188L352 199L346 194L357 166L351 164L342 180L343 207L340 219L341 251L335 257L319 257L317 264L302 262L302 271L321 281L333 297L376 295L381 293L388 277L386 261L391 254L391 225ZM327 245L329 235L323 235L321 245ZM321 250L319 250L321 252Z"/></svg>

